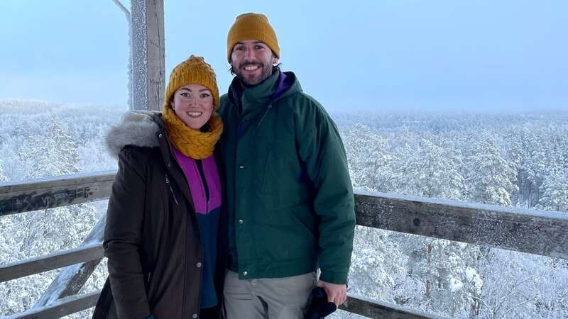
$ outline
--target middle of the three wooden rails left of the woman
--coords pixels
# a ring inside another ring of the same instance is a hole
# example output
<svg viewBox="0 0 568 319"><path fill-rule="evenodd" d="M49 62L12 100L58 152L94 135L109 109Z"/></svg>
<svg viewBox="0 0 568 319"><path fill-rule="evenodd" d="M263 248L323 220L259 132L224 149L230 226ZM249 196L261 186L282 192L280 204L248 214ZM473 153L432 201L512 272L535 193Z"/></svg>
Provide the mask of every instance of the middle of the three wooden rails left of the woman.
<svg viewBox="0 0 568 319"><path fill-rule="evenodd" d="M12 262L0 266L0 282L9 281L31 274L39 274L48 270L66 267L71 264L101 259L103 257L100 242L90 243L72 250L55 252L42 257L26 259L21 262Z"/></svg>

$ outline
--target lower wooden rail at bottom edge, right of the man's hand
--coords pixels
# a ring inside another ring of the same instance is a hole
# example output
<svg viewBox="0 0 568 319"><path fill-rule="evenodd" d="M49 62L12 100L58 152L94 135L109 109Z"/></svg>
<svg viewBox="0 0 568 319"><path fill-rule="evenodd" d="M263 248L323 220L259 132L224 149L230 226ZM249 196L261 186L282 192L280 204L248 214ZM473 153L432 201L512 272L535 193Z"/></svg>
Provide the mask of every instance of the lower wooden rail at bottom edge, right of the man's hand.
<svg viewBox="0 0 568 319"><path fill-rule="evenodd" d="M339 309L363 315L367 318L381 319L443 319L435 315L427 315L420 311L410 310L390 303L381 303L361 296L347 296L347 301Z"/></svg>

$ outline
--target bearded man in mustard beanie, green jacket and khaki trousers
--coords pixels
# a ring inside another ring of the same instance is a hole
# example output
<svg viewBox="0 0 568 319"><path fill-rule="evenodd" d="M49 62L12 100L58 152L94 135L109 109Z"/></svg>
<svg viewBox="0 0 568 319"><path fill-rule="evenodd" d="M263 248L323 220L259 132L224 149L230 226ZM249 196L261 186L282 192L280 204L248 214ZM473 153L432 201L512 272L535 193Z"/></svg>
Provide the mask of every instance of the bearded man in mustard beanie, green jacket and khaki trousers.
<svg viewBox="0 0 568 319"><path fill-rule="evenodd" d="M266 16L236 17L227 37L236 77L220 98L217 147L229 213L228 319L302 318L316 284L337 306L346 299L355 214L345 150L279 57Z"/></svg>

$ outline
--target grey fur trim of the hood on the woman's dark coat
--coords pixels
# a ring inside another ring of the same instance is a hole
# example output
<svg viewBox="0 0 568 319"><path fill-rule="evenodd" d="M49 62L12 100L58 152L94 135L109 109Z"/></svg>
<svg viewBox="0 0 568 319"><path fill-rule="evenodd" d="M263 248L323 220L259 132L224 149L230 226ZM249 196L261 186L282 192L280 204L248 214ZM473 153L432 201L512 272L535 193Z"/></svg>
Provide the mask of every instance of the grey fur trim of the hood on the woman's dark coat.
<svg viewBox="0 0 568 319"><path fill-rule="evenodd" d="M155 123L155 111L129 111L122 117L121 123L113 125L105 138L107 150L114 157L127 145L139 147L158 147L156 133L160 126Z"/></svg>

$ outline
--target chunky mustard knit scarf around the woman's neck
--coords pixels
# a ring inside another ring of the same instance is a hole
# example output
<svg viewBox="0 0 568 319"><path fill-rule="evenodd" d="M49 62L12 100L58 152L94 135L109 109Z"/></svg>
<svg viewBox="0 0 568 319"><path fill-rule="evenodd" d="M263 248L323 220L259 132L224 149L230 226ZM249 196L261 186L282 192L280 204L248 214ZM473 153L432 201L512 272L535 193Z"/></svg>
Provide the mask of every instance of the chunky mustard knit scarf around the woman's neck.
<svg viewBox="0 0 568 319"><path fill-rule="evenodd" d="M170 142L183 155L192 159L204 159L213 155L215 144L223 133L223 122L217 113L212 113L209 118L206 124L209 128L207 132L185 125L169 106L162 108L162 118Z"/></svg>

